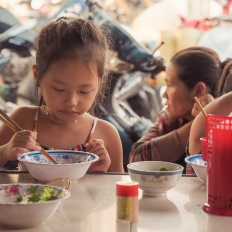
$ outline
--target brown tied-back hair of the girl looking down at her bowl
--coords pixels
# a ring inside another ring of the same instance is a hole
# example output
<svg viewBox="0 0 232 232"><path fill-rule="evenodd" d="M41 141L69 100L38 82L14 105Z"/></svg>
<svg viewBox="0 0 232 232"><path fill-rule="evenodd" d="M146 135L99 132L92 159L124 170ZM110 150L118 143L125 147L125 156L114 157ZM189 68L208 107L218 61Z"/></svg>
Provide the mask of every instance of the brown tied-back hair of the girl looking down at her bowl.
<svg viewBox="0 0 232 232"><path fill-rule="evenodd" d="M58 18L42 28L35 44L39 80L58 60L81 59L88 68L91 64L97 65L101 84L96 98L102 99L107 79L105 62L110 44L109 34L106 32L90 21L67 17ZM36 94L38 97L38 89ZM39 100L39 105L41 104L43 104L42 96Z"/></svg>

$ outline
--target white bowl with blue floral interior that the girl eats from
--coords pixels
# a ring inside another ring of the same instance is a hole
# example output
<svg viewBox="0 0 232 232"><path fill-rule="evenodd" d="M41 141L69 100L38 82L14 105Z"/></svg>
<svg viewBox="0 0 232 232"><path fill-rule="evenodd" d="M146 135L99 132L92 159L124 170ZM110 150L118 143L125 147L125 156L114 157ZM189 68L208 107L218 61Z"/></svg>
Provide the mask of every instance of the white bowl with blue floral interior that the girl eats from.
<svg viewBox="0 0 232 232"><path fill-rule="evenodd" d="M58 164L53 164L40 152L24 153L20 158L29 173L40 182L46 183L57 178L69 178L71 181L82 178L89 166L99 157L95 154L70 150L48 150Z"/></svg>

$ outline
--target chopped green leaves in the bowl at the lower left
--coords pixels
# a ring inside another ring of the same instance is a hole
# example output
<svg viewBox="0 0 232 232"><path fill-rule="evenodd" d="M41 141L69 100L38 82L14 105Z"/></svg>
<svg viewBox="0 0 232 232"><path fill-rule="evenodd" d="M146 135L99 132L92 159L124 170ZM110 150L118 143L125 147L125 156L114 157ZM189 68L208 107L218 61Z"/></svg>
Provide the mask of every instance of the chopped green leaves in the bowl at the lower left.
<svg viewBox="0 0 232 232"><path fill-rule="evenodd" d="M43 191L38 191L38 185L31 186L27 189L28 194L19 194L17 202L39 202L39 201L50 201L61 197L62 191L57 191L52 187L45 186Z"/></svg>

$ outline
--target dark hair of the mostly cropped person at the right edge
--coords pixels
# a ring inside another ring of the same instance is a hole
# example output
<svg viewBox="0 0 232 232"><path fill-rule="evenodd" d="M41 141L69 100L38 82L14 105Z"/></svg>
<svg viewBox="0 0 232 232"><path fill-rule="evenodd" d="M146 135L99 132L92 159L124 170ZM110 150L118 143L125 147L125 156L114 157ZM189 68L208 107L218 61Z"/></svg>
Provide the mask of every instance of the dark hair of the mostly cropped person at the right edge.
<svg viewBox="0 0 232 232"><path fill-rule="evenodd" d="M216 86L216 97L232 91L232 59L222 63L222 74Z"/></svg>

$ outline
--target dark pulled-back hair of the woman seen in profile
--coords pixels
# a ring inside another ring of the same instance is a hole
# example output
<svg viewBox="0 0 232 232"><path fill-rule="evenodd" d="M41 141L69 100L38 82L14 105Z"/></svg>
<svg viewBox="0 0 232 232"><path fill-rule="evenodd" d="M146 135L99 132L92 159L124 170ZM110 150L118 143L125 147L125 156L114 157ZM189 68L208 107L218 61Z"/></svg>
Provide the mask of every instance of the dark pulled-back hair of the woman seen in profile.
<svg viewBox="0 0 232 232"><path fill-rule="evenodd" d="M221 74L221 61L213 50L206 47L190 47L177 52L171 59L177 67L178 78L189 89L204 82L215 97L215 87Z"/></svg>

